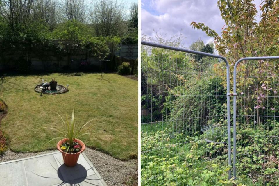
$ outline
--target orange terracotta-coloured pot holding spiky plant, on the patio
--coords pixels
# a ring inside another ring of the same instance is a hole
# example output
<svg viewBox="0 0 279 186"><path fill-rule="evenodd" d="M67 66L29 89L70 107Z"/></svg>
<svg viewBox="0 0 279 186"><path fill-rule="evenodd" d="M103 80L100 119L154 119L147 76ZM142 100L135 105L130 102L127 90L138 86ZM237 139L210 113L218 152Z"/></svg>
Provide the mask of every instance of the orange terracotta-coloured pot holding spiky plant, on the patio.
<svg viewBox="0 0 279 186"><path fill-rule="evenodd" d="M57 144L57 149L58 149L58 151L62 152L64 164L67 165L68 167L74 167L78 162L79 154L85 150L85 144L81 140L76 139L78 144L81 146L81 151L79 151L77 153L73 153L73 154L65 153L64 151L62 151L61 145L64 142L66 142L67 140L68 140L68 138L64 138L63 140L60 140Z"/></svg>

